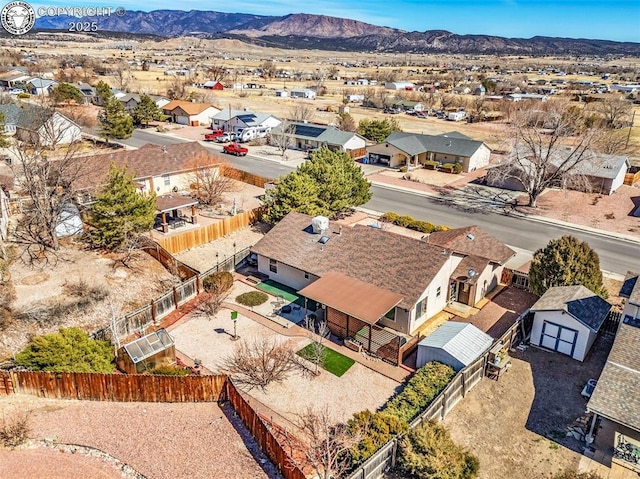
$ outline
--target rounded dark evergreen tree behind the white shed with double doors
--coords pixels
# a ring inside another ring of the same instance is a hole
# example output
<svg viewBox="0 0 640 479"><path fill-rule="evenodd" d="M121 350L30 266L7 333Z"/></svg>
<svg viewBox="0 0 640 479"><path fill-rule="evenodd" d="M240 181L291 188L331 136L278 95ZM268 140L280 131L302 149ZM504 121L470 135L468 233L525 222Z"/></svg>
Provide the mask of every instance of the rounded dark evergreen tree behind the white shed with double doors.
<svg viewBox="0 0 640 479"><path fill-rule="evenodd" d="M603 298L607 291L602 281L600 258L588 243L573 236L551 240L533 255L529 284L538 296L554 286L581 284Z"/></svg>

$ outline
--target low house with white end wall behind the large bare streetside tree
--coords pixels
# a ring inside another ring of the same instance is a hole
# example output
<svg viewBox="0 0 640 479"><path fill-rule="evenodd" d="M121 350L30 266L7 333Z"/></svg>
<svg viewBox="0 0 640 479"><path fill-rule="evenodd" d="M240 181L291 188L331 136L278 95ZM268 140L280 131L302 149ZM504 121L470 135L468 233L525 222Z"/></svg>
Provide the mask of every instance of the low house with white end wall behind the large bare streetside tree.
<svg viewBox="0 0 640 479"><path fill-rule="evenodd" d="M563 164L566 161L567 155L570 153L570 150L556 150L550 159L551 166L554 164ZM519 165L515 161L511 162L512 170L506 176L500 172L500 170L504 168L503 165L490 167L487 170L487 184L508 190L524 191L522 182L518 179L520 176L519 172L530 163L526 158L523 158L520 162L522 165ZM586 152L585 158L575 166L572 172L572 175L582 176L586 180L586 185L585 181L567 181L565 184L558 183L552 186L556 188L584 189L584 187L588 185L591 191L595 193L612 195L624 184L624 178L629 168L631 168L631 163L626 156Z"/></svg>

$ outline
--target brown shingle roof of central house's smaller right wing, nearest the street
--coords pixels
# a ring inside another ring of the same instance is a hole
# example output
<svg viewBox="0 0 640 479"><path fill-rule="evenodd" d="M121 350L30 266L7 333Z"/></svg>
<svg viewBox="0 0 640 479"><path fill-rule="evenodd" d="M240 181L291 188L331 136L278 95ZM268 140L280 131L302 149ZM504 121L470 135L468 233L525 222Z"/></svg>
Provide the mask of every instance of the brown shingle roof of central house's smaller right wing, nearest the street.
<svg viewBox="0 0 640 479"><path fill-rule="evenodd" d="M438 245L458 254L479 256L504 264L515 251L485 233L477 226L465 226L447 231L431 233L427 239L429 244Z"/></svg>

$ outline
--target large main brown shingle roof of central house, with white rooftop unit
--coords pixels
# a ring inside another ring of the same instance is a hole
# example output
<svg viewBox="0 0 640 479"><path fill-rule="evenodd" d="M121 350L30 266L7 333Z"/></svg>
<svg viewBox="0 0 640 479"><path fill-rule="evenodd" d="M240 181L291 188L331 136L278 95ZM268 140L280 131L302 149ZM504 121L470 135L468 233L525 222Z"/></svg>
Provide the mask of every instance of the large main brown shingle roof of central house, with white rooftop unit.
<svg viewBox="0 0 640 479"><path fill-rule="evenodd" d="M338 271L404 297L410 309L449 258L442 248L368 226L329 224L326 244L313 234L311 217L291 212L252 248L294 268L323 276Z"/></svg>

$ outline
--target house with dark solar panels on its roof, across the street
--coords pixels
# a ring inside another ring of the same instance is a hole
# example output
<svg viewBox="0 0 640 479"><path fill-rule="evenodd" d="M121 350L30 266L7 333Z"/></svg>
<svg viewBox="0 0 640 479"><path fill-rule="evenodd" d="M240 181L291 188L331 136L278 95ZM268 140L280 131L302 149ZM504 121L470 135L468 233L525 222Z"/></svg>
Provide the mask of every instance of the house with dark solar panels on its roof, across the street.
<svg viewBox="0 0 640 479"><path fill-rule="evenodd" d="M278 141L278 135L289 137L291 147L300 150L326 146L333 151L347 152L354 158L361 158L366 154L366 140L362 136L333 126L285 122L272 130L272 141L274 138Z"/></svg>

